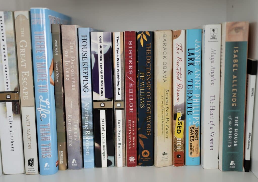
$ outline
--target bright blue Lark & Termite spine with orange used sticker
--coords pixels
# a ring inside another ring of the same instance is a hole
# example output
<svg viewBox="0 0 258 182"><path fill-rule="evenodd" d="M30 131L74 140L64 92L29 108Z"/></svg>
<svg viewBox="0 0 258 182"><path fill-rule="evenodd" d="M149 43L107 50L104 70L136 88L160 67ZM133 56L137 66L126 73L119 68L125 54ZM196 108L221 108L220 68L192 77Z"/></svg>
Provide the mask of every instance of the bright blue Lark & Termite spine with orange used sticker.
<svg viewBox="0 0 258 182"><path fill-rule="evenodd" d="M186 30L186 165L200 165L201 32Z"/></svg>

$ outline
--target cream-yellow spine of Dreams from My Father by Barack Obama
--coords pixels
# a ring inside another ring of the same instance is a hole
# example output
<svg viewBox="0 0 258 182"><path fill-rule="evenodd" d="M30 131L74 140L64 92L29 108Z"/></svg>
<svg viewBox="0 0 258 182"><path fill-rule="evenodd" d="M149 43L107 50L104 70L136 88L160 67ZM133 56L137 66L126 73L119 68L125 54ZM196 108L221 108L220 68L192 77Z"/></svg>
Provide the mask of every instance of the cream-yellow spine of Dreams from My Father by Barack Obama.
<svg viewBox="0 0 258 182"><path fill-rule="evenodd" d="M154 32L154 165L172 165L172 30Z"/></svg>

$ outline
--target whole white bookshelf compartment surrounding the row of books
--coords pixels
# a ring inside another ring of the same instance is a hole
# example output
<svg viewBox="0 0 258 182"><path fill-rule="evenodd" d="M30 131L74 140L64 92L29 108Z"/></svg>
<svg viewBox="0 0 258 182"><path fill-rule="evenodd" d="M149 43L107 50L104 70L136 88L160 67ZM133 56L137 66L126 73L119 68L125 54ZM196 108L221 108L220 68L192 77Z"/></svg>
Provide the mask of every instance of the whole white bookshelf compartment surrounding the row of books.
<svg viewBox="0 0 258 182"><path fill-rule="evenodd" d="M47 7L71 16L73 24L104 31L184 29L224 21L249 21L251 38L248 56L258 59L258 37L255 36L257 0L0 0L0 3L1 11ZM256 95L255 110L258 110L258 84ZM256 117L257 112L254 113ZM256 129L258 124L254 122L253 130ZM258 134L254 132L253 144L257 140ZM252 154L257 150L258 146L252 145ZM258 181L258 156L252 154L252 172L249 173L204 170L201 166L114 167L58 171L52 176L2 175L0 181Z"/></svg>

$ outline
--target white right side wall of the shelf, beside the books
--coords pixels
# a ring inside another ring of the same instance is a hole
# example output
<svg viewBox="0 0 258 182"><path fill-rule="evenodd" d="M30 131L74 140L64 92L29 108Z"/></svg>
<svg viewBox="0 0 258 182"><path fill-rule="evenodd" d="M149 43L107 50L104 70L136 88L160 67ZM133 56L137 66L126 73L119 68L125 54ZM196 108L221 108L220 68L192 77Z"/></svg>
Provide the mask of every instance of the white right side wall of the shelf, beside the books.
<svg viewBox="0 0 258 182"><path fill-rule="evenodd" d="M229 0L227 21L249 21L248 57L258 59L258 1ZM251 146L251 171L258 177L258 79L256 79L253 136Z"/></svg>

